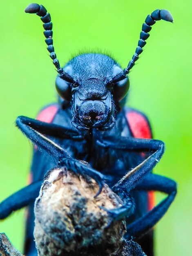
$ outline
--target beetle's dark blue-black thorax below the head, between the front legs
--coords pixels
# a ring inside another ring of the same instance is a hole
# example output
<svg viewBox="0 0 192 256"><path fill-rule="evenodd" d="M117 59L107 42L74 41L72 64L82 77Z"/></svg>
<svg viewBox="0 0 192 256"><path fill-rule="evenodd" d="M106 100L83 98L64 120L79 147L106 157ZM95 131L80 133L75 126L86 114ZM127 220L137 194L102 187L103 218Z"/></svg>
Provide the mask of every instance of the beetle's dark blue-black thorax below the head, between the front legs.
<svg viewBox="0 0 192 256"><path fill-rule="evenodd" d="M71 111L69 108L59 110L54 118L54 123L70 129L74 129L71 124ZM93 168L104 173L109 183L114 183L130 168L138 163L138 156L135 153L127 153L125 150L113 148L102 148L96 143L98 137L130 137L127 119L124 110L116 115L116 125L111 130L100 132L96 129L85 136L83 141L58 140L71 157L87 161Z"/></svg>

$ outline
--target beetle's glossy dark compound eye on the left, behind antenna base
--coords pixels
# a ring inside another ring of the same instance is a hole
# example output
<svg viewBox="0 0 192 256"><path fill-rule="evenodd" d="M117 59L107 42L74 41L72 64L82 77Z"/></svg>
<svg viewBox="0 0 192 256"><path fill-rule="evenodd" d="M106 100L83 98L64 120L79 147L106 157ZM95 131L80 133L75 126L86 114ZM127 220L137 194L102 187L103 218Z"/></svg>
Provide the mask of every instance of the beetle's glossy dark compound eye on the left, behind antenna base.
<svg viewBox="0 0 192 256"><path fill-rule="evenodd" d="M72 74L71 66L65 67L64 70L69 75ZM62 97L66 101L70 101L71 100L71 84L61 79L59 76L57 76L55 85L56 85L56 90L60 95L60 97Z"/></svg>

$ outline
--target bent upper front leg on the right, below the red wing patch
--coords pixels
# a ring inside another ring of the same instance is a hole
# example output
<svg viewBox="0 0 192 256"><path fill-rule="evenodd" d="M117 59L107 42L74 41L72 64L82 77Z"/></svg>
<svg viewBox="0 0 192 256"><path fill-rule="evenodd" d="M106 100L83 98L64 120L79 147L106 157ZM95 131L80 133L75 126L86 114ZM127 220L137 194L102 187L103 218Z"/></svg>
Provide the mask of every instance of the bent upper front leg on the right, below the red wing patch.
<svg viewBox="0 0 192 256"><path fill-rule="evenodd" d="M136 166L125 174L117 184L113 186L114 191L119 191L122 187L126 187L129 191L141 182L144 177L149 174L154 166L159 162L164 153L164 143L155 139L137 139L132 137L121 137L118 140L114 137L107 139L98 139L96 143L105 148L114 148L125 151L134 152L151 152L141 164Z"/></svg>

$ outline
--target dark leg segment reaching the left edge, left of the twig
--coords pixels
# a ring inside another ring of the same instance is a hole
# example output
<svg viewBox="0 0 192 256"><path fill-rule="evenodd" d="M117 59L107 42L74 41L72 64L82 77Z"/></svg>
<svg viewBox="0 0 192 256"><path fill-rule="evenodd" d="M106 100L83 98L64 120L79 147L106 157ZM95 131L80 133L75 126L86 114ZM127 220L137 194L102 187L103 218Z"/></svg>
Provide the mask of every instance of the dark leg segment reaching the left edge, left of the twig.
<svg viewBox="0 0 192 256"><path fill-rule="evenodd" d="M42 181L32 183L2 201L0 203L0 220L33 202L39 195L41 184Z"/></svg>

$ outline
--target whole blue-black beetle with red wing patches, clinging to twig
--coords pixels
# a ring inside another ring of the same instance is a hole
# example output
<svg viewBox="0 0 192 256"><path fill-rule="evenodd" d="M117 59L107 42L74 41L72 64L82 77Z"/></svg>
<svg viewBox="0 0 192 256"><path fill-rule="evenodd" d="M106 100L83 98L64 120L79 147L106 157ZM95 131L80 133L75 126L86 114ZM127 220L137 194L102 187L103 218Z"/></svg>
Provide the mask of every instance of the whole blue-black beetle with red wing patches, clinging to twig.
<svg viewBox="0 0 192 256"><path fill-rule="evenodd" d="M176 195L176 183L151 173L164 153L164 144L151 139L150 125L143 113L125 108L128 74L143 51L152 25L157 20L173 22L170 12L157 9L147 16L136 51L125 69L113 58L96 53L78 55L60 67L54 52L50 14L39 4L30 4L25 12L36 13L43 22L47 49L58 72L59 102L43 109L38 120L18 117L17 126L38 146L33 153L32 183L0 204L0 219L29 205L25 254L36 255L34 199L45 173L56 164L65 164L71 171L94 178L99 184L98 194L105 180L125 202L121 209L105 210L114 220L128 215L125 238L140 238L169 208ZM45 153L53 157L47 158ZM91 167L80 164L78 159ZM168 196L153 209L147 209L148 191L161 191ZM133 198L135 204L131 215L127 197ZM138 242L148 256L153 255L150 232Z"/></svg>

